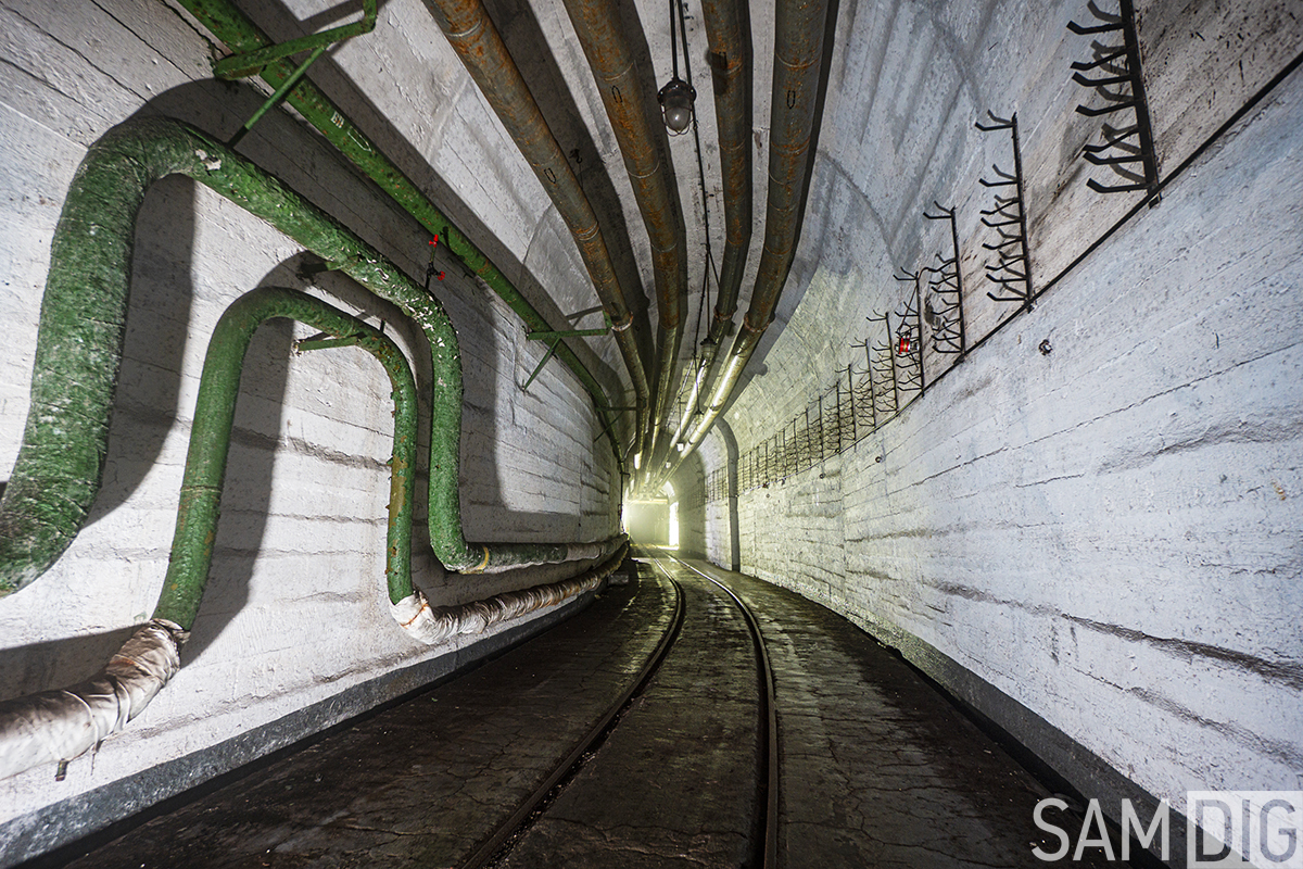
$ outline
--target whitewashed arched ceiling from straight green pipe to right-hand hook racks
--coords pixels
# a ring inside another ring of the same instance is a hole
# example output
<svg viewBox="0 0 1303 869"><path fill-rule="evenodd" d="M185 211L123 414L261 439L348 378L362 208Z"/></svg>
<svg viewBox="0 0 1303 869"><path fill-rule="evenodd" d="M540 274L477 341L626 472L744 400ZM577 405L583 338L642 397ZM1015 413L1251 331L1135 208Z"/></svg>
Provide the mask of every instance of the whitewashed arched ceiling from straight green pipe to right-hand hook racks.
<svg viewBox="0 0 1303 869"><path fill-rule="evenodd" d="M337 7L330 0L244 5L274 39L356 17L351 4ZM486 0L486 5L593 202L636 323L644 327L642 353L650 371L657 305L648 235L564 5L559 0ZM708 46L700 0L687 0L683 8L697 90L709 242L718 263L723 201ZM754 0L748 8L754 207L735 323L747 309L765 236L773 73L774 3ZM644 96L654 106L655 91L671 74L670 5L632 0L620 4L620 13L633 42ZM1065 26L1085 14L1087 4L1076 0L840 0L830 8L829 27L835 31L825 40L826 102L805 223L775 319L727 410L743 448L773 435L780 421L800 414L831 386L838 369L844 371L863 357L855 345L868 334L865 317L891 311L907 294L903 284L891 280L899 268L921 268L949 250L949 227L923 218L934 202L956 211L966 285L982 281L980 212L989 205L989 190L979 178L1009 158L1005 134L973 126L988 109L1024 119L1035 283L1044 285L1062 274L1104 228L1123 216L1128 197L1101 199L1079 177L1081 160L1076 158L1098 133L1098 124L1072 111L1081 89L1071 81L1070 64L1088 44ZM1153 59L1147 68L1154 70L1151 102L1165 109L1156 124L1162 128L1158 141L1165 152L1158 156L1166 165L1188 156L1299 42L1296 23L1239 22L1229 13L1204 9L1197 23L1208 31L1263 27L1273 36L1260 40L1263 57L1250 68L1248 78L1235 81L1234 70L1210 48L1182 35L1184 25L1174 26L1181 14L1171 4L1138 4L1141 51ZM1182 70L1195 68L1208 69L1207 81L1191 86ZM422 0L382 0L374 33L337 46L311 77L356 112L362 128L400 165L418 167L413 177L429 178L433 169L434 198L554 322L597 307L569 232ZM659 124L655 129L663 132ZM671 158L687 225L689 289L680 350L680 360L687 360L711 315L706 310L698 327L706 263L702 185L691 133L663 137L659 147ZM1007 313L1007 307L986 304L985 293L966 294L975 297L973 334L989 332ZM595 315L577 324L593 326ZM601 357L609 386L619 382L625 404L632 404L615 343L590 339L589 347ZM671 431L676 420L671 408Z"/></svg>

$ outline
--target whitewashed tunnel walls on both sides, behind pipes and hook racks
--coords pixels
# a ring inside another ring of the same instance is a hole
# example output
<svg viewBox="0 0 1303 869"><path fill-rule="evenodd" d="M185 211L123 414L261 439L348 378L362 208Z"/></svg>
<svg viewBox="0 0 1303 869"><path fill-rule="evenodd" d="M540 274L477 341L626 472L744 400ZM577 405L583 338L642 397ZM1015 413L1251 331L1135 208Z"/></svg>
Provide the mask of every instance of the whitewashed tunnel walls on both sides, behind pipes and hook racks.
<svg viewBox="0 0 1303 869"><path fill-rule="evenodd" d="M1079 156L1100 122L1074 107L1098 98L1071 82L1089 39L1065 25L1092 23L1085 3L842 0L780 322L756 360L764 374L726 417L739 461L857 362L863 318L900 301L893 274L947 250L949 229L923 218L934 199L956 211L969 334L1010 313L985 298L981 280L981 245L993 237L980 223L992 194L979 180L1011 160L1007 133L973 128L988 109L1019 115L1033 283L1055 284L874 435L818 468L743 489L736 520L711 496L719 470L736 473L714 436L702 465L685 465L697 491L683 489L687 474L675 481L689 504L685 548L727 565L726 541L737 538L743 569L865 625L1052 762L1078 748L1093 757L1063 767L1088 793L1132 782L1181 808L1187 788L1296 788L1303 769L1298 72L1214 137L1303 50L1283 8L1139 4L1160 175L1181 172L1161 205L1128 216L1139 194L1091 192L1088 177L1109 175ZM0 3L0 321L10 339L0 353L0 468L17 451L48 238L85 147L137 111L229 133L261 102L207 81L207 39L171 7L150 9ZM267 5L272 20L259 23L292 35L293 12L278 9ZM765 23L771 9L756 3L753 16ZM762 106L770 27L753 31ZM392 0L374 38L332 51L311 76L525 292L555 294L547 314L590 307L542 188L503 159L512 146L439 39L420 3ZM572 109L586 117L594 106ZM761 130L760 156L764 139ZM584 155L594 149L611 143ZM289 116L268 113L241 150L409 274L423 272L425 235ZM616 172L610 186L603 201L624 199L632 223L627 180ZM620 257L631 275L645 266L638 233ZM293 244L180 180L150 194L136 263L106 492L59 565L0 607L3 696L85 676L149 612L202 337L245 289L298 283ZM391 313L344 280L319 283L371 322ZM619 485L609 452L590 447L598 426L579 384L549 366L520 395L542 348L455 268L438 292L466 356L466 526L489 539L612 532ZM400 343L420 340L391 322ZM271 327L250 357L215 595L182 671L65 780L51 783L47 769L7 782L9 842L35 853L103 823L108 805L139 808L194 780L184 775L220 771L218 752L229 765L254 757L474 654L414 648L383 608L383 374L361 356L289 361L291 337ZM1037 350L1045 339L1048 356ZM614 397L614 345L589 347ZM947 361L928 350L925 363L936 371ZM429 562L418 568L448 601L547 573L472 588L440 585ZM176 757L197 758L181 778Z"/></svg>

